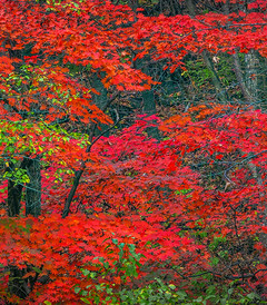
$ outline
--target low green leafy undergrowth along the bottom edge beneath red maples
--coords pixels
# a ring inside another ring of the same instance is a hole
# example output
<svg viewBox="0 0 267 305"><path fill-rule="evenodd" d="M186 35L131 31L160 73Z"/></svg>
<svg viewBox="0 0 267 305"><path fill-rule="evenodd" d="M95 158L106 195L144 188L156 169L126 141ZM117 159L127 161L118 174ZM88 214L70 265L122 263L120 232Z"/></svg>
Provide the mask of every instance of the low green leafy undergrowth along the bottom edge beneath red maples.
<svg viewBox="0 0 267 305"><path fill-rule="evenodd" d="M221 242L224 242L224 238L218 237L214 240L211 247L217 247ZM93 266L98 267L98 273L90 270L92 265L85 266L81 269L82 275L86 277L85 281L95 282L93 285L89 284L86 288L75 287L75 292L80 295L80 301L85 304L264 304L257 294L246 293L235 281L221 286L221 284L214 281L211 274L207 273L204 275L196 274L191 277L192 293L190 295L186 292L186 287L182 287L182 284L175 285L174 281L166 283L158 276L154 277L147 285L136 288L135 282L140 279L138 270L145 267L140 264L142 255L136 253L134 244L119 244L117 239L112 239L112 243L119 249L119 258L112 266L103 257L96 257L95 259L99 263ZM121 281L119 288L111 281L108 284L99 281L100 278L107 279L118 275L120 275Z"/></svg>

